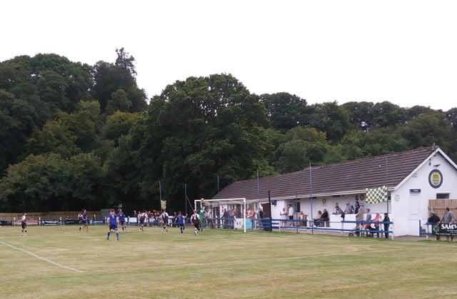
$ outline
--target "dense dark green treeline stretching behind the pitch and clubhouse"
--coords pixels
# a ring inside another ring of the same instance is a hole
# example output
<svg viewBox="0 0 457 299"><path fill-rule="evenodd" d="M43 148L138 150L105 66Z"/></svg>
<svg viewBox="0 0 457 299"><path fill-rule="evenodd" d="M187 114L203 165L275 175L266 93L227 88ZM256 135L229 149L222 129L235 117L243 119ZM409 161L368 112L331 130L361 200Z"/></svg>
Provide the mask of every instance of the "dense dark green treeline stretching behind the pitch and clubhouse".
<svg viewBox="0 0 457 299"><path fill-rule="evenodd" d="M457 160L457 108L309 105L190 77L146 98L134 57L56 54L0 63L0 210L184 209L233 181L436 143ZM439 101L439 99L431 99ZM160 182L160 183L159 183ZM186 193L185 193L186 192Z"/></svg>

